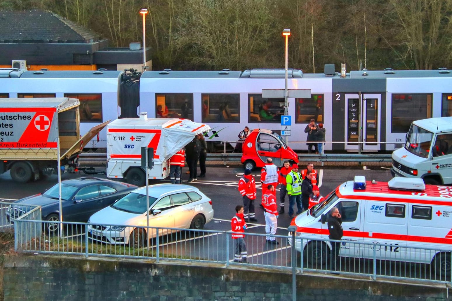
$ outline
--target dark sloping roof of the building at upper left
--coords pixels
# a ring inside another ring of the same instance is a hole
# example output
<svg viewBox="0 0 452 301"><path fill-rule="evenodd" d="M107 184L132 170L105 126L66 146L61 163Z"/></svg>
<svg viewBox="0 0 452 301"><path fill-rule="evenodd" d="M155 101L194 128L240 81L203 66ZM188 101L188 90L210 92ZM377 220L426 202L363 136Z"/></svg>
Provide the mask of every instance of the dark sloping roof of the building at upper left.
<svg viewBox="0 0 452 301"><path fill-rule="evenodd" d="M92 43L99 34L48 10L0 10L0 43Z"/></svg>

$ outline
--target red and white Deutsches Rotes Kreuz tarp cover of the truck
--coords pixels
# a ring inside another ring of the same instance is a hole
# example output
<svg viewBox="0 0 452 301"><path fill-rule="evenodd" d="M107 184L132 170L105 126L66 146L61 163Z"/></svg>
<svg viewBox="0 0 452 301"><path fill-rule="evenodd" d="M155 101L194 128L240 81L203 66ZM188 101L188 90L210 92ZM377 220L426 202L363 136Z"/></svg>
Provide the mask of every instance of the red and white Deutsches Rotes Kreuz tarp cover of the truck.
<svg viewBox="0 0 452 301"><path fill-rule="evenodd" d="M74 98L0 100L0 148L57 148L58 112L78 107Z"/></svg>

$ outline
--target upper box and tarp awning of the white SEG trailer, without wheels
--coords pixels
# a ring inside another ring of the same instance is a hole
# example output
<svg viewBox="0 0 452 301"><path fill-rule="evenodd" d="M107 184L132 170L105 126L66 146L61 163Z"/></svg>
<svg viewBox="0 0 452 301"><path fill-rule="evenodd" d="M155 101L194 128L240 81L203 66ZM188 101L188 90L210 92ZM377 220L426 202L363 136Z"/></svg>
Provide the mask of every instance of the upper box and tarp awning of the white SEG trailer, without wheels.
<svg viewBox="0 0 452 301"><path fill-rule="evenodd" d="M187 145L197 134L210 130L209 125L188 119L113 120L107 125L108 159L141 158L141 147L154 148L154 163L165 162Z"/></svg>

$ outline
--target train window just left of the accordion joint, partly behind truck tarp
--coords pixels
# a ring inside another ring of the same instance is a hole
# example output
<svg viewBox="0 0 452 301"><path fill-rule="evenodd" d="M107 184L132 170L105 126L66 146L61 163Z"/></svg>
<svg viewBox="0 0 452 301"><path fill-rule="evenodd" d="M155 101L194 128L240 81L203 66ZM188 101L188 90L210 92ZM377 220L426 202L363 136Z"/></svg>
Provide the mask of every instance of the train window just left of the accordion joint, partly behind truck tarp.
<svg viewBox="0 0 452 301"><path fill-rule="evenodd" d="M80 122L102 121L102 94L65 93L64 97L80 100Z"/></svg>

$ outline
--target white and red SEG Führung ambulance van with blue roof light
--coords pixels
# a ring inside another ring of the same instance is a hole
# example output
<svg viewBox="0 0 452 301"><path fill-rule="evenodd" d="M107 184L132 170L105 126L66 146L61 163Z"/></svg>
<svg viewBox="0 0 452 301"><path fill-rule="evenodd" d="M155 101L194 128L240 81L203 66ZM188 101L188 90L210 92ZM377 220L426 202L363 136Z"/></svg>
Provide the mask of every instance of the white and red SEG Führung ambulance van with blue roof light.
<svg viewBox="0 0 452 301"><path fill-rule="evenodd" d="M339 185L292 220L296 237L302 238L302 244L296 239L296 249L308 264L321 266L330 258L325 220L333 207L339 209L344 229L339 256L372 259L375 250L376 259L432 264L439 275L450 275L452 186L400 177L366 181L364 176Z"/></svg>

